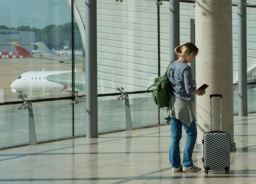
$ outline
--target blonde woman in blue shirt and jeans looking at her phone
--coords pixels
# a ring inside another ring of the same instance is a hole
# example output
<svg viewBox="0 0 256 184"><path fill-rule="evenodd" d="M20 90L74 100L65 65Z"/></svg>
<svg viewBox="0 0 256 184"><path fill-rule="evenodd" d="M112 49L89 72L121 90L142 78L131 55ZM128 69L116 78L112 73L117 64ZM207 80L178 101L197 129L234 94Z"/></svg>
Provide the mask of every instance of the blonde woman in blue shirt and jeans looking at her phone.
<svg viewBox="0 0 256 184"><path fill-rule="evenodd" d="M187 64L195 59L198 48L193 43L185 43L174 49L177 61L171 64L168 78L171 83L173 98L171 99L171 143L169 147L169 161L173 172L198 172L200 167L193 164L192 154L197 139L197 125L192 112L192 101L195 95L205 94L205 90L196 90L192 80L192 72ZM187 138L184 146L183 168L179 151L179 141L182 126L186 130Z"/></svg>

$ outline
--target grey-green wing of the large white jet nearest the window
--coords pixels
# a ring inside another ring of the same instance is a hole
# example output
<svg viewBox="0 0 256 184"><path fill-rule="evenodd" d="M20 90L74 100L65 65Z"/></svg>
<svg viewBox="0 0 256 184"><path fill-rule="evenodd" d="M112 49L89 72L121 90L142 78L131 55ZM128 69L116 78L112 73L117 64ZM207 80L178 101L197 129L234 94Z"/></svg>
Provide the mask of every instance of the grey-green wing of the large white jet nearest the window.
<svg viewBox="0 0 256 184"><path fill-rule="evenodd" d="M60 73L48 75L46 80L49 82L59 83L64 86L72 86L72 73ZM75 89L85 91L85 73L75 72Z"/></svg>

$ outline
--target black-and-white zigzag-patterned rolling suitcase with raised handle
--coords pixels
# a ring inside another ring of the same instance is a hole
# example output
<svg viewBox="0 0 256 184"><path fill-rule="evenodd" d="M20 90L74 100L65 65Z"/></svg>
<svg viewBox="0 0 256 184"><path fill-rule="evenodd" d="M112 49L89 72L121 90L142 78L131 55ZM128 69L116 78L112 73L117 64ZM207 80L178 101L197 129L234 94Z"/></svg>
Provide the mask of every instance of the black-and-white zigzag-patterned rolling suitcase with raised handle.
<svg viewBox="0 0 256 184"><path fill-rule="evenodd" d="M222 95L211 94L213 97L220 97L220 131L210 131L203 135L203 167L205 173L208 170L225 170L229 173L230 168L230 136L227 132L222 132ZM210 123L212 123L212 112L210 107ZM211 128L211 125L210 125Z"/></svg>

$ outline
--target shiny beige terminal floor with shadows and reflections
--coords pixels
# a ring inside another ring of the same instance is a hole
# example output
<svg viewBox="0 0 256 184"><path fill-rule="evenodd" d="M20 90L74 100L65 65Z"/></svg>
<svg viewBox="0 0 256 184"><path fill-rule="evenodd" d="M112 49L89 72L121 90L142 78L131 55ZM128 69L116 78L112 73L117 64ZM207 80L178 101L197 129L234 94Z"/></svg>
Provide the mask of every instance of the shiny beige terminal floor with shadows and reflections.
<svg viewBox="0 0 256 184"><path fill-rule="evenodd" d="M228 175L171 173L169 125L163 125L2 150L0 183L255 183L256 114L234 120L237 150ZM202 167L202 151L193 159Z"/></svg>

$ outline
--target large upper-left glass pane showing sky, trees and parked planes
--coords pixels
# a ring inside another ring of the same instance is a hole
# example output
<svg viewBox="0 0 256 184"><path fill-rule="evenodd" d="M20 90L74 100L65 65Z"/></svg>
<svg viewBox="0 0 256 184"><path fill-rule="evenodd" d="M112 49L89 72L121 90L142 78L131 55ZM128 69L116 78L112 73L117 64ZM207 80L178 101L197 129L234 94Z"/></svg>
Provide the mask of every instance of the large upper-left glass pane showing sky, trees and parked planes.
<svg viewBox="0 0 256 184"><path fill-rule="evenodd" d="M0 88L4 101L17 101L19 93L27 94L28 99L69 96L70 17L69 1L1 1Z"/></svg>

